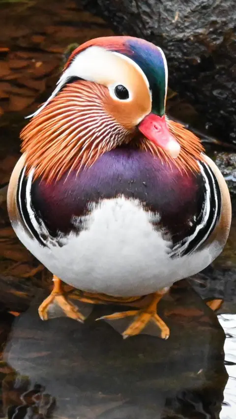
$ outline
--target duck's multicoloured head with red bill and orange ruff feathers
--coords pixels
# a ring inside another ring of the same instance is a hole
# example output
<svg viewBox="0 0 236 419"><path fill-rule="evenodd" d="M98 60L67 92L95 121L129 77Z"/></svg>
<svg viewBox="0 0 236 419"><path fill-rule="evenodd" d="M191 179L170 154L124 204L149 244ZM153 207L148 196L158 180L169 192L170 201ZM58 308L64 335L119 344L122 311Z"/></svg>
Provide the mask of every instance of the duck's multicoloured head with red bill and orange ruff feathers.
<svg viewBox="0 0 236 419"><path fill-rule="evenodd" d="M200 141L165 116L167 81L164 53L148 41L114 36L76 48L21 133L27 167L52 180L133 143L179 168L197 169Z"/></svg>

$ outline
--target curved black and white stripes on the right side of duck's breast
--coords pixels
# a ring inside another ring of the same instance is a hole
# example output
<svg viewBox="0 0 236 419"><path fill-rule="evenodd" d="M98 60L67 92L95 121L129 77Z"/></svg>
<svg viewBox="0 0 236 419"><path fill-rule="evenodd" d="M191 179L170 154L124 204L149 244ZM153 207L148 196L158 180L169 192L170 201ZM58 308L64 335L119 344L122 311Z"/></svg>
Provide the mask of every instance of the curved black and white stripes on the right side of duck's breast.
<svg viewBox="0 0 236 419"><path fill-rule="evenodd" d="M220 218L221 192L217 179L208 165L199 162L199 166L205 184L205 199L201 212L194 216L189 235L172 249L172 258L192 254L198 250L206 242Z"/></svg>

